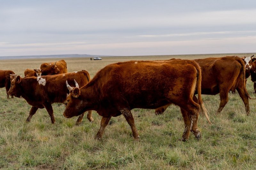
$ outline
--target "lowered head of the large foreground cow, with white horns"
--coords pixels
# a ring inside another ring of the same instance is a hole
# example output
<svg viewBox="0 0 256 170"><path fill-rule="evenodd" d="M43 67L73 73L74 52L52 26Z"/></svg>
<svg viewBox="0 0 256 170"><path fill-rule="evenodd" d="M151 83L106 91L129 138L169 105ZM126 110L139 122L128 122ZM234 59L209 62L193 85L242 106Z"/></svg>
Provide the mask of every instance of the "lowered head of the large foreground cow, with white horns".
<svg viewBox="0 0 256 170"><path fill-rule="evenodd" d="M67 105L65 107L65 111L63 112L63 115L67 118L71 118L73 116L78 116L84 113L83 111L83 105L84 101L80 99L80 89L79 85L77 84L76 80L75 84L76 87L73 88L70 85L68 85L68 81L66 81L67 88L69 90L69 94L67 96Z"/></svg>

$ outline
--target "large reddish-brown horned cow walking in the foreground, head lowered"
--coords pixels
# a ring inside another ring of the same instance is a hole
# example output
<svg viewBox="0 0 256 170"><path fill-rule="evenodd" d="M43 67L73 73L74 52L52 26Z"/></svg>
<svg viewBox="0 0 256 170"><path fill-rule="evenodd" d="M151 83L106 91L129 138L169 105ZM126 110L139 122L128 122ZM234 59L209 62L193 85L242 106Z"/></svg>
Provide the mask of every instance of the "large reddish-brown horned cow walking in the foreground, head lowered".
<svg viewBox="0 0 256 170"><path fill-rule="evenodd" d="M101 69L85 86L70 85L67 105L63 115L67 118L96 110L102 116L96 139L101 139L110 118L123 115L131 126L135 140L139 139L131 113L133 108L156 109L175 104L181 109L185 123L182 140L186 141L190 130L197 139L201 132L197 128L199 110L207 115L201 99L201 70L191 60L166 62L129 61L110 64ZM197 87L198 104L192 97Z"/></svg>

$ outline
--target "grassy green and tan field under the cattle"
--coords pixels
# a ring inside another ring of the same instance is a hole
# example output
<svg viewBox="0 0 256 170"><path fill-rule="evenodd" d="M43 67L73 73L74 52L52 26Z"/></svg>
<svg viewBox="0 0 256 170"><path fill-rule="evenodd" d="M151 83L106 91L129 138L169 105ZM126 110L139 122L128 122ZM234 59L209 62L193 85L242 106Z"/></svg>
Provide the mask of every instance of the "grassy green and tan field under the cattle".
<svg viewBox="0 0 256 170"><path fill-rule="evenodd" d="M249 54L238 54L249 56ZM195 59L225 55L175 55L139 57L65 58L68 71L87 70L91 78L110 63L129 60ZM0 60L0 70L36 69L41 63L57 59ZM253 83L247 81L252 97ZM7 99L0 89L0 169L255 169L256 168L256 100L249 100L251 114L246 116L238 93L229 93L229 101L220 114L219 95L203 95L212 125L199 117L202 138L190 133L180 141L184 122L180 109L171 105L162 115L154 110L133 109L140 140L134 141L132 130L123 116L112 117L102 140L94 137L101 117L92 112L94 122L86 118L75 125L76 117L67 119L63 104L53 104L55 124L45 109L38 109L27 123L30 105L22 98ZM85 116L86 117L86 116Z"/></svg>

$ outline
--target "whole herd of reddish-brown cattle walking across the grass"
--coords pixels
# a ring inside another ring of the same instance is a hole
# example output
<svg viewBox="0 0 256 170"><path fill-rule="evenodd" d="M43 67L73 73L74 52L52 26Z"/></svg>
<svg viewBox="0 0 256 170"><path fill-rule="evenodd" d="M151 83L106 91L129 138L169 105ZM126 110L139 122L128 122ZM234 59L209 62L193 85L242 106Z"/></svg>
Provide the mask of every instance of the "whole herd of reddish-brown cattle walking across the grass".
<svg viewBox="0 0 256 170"><path fill-rule="evenodd" d="M124 115L134 139L138 139L133 108L156 109L156 114L162 114L170 104L175 104L183 116L182 140L186 141L190 131L197 139L201 137L197 127L200 112L211 124L201 94L220 93L217 110L220 113L228 102L229 91L237 90L249 115L248 99L252 99L246 90L249 76L256 92L256 59L252 57L114 63L101 69L92 80L85 70L68 73L67 63L60 60L43 63L40 69L27 69L24 78L11 70L0 70L0 87L6 88L7 98L22 97L32 106L27 122L38 108L45 107L54 123L52 103L65 104L63 115L67 118L80 115L76 123L82 121L86 111L92 122L92 110L97 111L102 116L97 139L102 137L110 118L119 115Z"/></svg>

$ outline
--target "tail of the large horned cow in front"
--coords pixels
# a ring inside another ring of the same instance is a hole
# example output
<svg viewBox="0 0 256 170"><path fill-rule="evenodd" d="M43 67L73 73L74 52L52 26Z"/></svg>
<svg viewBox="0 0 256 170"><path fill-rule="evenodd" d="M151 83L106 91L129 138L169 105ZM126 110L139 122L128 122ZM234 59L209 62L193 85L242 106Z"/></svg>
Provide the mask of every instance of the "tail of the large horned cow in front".
<svg viewBox="0 0 256 170"><path fill-rule="evenodd" d="M209 116L208 116L208 111L204 107L204 103L203 103L202 96L201 96L202 72L201 72L200 66L198 64L196 64L196 65L197 65L196 70L197 70L197 94L198 94L197 103L200 105L200 114L205 115L209 124L212 124L212 122L210 121Z"/></svg>

